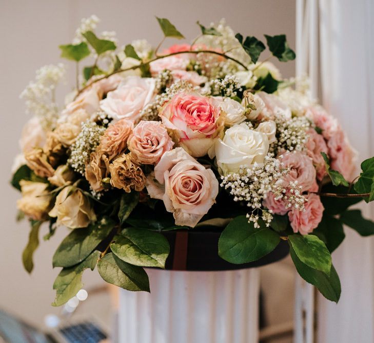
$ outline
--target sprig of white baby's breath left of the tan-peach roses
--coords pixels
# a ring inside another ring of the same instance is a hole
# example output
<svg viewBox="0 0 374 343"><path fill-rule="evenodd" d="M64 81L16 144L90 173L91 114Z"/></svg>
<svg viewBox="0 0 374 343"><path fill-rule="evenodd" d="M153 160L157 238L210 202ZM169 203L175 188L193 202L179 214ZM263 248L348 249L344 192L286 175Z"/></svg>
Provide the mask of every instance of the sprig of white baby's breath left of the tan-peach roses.
<svg viewBox="0 0 374 343"><path fill-rule="evenodd" d="M78 173L84 175L85 166L88 163L91 152L95 151L100 143L100 137L104 134L105 127L87 120L82 125L82 131L76 141L70 147L68 164Z"/></svg>

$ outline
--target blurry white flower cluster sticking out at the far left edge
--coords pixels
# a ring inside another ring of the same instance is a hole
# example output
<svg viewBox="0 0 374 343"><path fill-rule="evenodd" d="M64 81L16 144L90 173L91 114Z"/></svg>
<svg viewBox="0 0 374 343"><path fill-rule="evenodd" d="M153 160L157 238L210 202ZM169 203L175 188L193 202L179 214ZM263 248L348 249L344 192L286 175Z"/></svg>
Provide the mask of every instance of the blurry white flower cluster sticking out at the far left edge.
<svg viewBox="0 0 374 343"><path fill-rule="evenodd" d="M45 65L36 71L35 81L31 81L20 98L26 101L26 112L40 119L44 129L53 129L58 117L55 88L65 76L65 66Z"/></svg>

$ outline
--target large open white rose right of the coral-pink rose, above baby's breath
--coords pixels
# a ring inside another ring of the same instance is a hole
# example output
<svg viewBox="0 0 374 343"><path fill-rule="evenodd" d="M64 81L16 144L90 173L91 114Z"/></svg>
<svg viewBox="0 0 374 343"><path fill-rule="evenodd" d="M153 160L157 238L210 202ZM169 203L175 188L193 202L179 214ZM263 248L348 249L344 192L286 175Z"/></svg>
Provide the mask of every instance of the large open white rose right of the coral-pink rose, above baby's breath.
<svg viewBox="0 0 374 343"><path fill-rule="evenodd" d="M263 164L269 150L267 135L248 128L245 123L228 129L215 143L218 167L224 174L239 171L240 166Z"/></svg>

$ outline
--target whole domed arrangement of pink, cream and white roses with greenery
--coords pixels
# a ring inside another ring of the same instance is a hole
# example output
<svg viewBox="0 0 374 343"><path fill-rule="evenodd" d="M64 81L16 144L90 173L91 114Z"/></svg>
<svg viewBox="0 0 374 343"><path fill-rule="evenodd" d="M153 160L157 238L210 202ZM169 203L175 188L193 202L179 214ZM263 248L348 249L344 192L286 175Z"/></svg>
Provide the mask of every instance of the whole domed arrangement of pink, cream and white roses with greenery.
<svg viewBox="0 0 374 343"><path fill-rule="evenodd" d="M83 20L60 46L77 73L64 108L55 101L62 64L42 67L22 93L33 116L11 183L22 193L18 217L31 223L26 270L49 223L45 240L70 229L53 256L62 267L53 305L75 296L96 265L109 283L149 291L144 267L165 267L169 254L163 231L219 225L222 259L255 261L286 240L299 274L337 302L331 252L343 224L374 233L349 209L374 198L374 158L355 177L337 120L310 99L306 79L259 62L266 46L257 38L198 22L192 44L161 50L184 37L157 20L164 39L155 49L145 40L117 49L113 32L93 32L97 17ZM270 57L295 58L285 35L265 39Z"/></svg>

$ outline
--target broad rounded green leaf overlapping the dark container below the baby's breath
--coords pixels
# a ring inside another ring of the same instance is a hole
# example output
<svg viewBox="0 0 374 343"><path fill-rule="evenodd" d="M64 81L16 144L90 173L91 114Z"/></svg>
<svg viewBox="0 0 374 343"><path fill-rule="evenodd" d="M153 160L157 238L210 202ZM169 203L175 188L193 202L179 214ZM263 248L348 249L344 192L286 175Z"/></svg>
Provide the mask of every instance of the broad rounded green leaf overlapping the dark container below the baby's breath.
<svg viewBox="0 0 374 343"><path fill-rule="evenodd" d="M234 218L223 230L218 242L218 255L235 263L256 261L269 254L278 245L278 233L259 221L260 228L248 223L245 215Z"/></svg>

